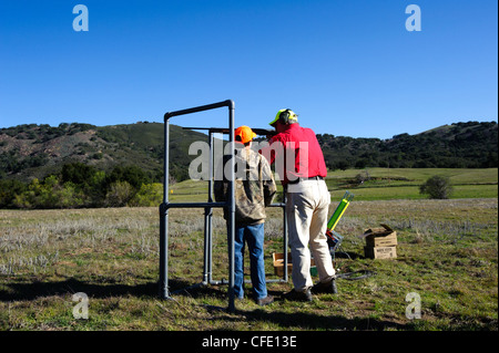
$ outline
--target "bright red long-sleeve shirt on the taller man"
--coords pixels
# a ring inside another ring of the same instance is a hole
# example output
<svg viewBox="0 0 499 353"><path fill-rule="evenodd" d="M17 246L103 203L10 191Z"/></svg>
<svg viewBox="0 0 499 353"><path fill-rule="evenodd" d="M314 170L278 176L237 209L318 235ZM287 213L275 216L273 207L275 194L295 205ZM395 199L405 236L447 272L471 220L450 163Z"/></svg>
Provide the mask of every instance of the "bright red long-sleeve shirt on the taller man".
<svg viewBox="0 0 499 353"><path fill-rule="evenodd" d="M283 185L298 177L327 176L323 150L314 131L297 123L287 125L284 132L274 135L261 153L271 165L275 164L275 172Z"/></svg>

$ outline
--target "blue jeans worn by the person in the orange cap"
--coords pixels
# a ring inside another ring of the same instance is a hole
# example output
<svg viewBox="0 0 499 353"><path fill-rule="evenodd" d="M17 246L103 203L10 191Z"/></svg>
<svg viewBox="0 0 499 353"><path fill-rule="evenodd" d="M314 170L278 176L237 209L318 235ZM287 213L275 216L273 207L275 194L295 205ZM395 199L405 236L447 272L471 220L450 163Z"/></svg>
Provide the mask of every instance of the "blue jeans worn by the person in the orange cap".
<svg viewBox="0 0 499 353"><path fill-rule="evenodd" d="M230 235L230 232L227 232ZM244 298L244 245L249 250L249 271L255 300L267 297L264 263L264 224L253 226L235 225L234 241L234 292Z"/></svg>

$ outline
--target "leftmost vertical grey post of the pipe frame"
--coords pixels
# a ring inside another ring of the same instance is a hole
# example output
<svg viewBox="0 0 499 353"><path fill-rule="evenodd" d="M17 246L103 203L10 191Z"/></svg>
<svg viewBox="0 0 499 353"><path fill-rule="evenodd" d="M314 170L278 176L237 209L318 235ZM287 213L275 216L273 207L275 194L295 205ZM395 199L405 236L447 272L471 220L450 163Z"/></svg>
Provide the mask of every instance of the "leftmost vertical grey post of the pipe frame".
<svg viewBox="0 0 499 353"><path fill-rule="evenodd" d="M164 183L163 204L160 205L160 298L170 298L169 293L169 149L170 149L170 122L164 122Z"/></svg>

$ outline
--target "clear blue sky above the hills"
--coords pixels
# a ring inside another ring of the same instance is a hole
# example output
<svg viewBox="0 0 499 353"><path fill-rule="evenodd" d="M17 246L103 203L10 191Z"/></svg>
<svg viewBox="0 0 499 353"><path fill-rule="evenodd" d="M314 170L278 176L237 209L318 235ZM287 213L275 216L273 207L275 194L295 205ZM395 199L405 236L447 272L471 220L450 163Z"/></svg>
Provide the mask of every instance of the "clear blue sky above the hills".
<svg viewBox="0 0 499 353"><path fill-rule="evenodd" d="M79 3L88 32L72 27ZM405 27L411 3L419 32ZM236 125L267 127L289 107L337 136L497 121L497 13L496 0L2 0L0 127L163 122L227 98Z"/></svg>

